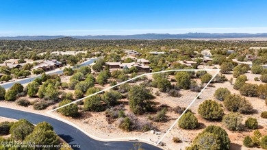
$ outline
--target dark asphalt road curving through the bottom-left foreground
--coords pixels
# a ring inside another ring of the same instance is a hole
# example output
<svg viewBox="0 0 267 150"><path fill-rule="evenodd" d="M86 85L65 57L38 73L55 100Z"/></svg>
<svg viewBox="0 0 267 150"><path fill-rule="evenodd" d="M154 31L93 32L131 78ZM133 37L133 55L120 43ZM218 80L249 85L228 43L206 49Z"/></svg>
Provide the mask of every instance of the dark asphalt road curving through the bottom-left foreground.
<svg viewBox="0 0 267 150"><path fill-rule="evenodd" d="M7 118L20 119L25 118L27 121L31 123L37 124L42 121L46 121L50 123L55 132L63 138L69 145L73 146L73 149L81 149L81 150L129 150L133 149L133 144L136 142L102 142L98 140L94 140L79 129L68 125L62 121L58 121L55 118L50 118L48 116L42 116L40 114L33 114L30 112L23 112L20 110L12 110L9 108L1 108L0 107L0 116ZM75 148L75 145L80 145L80 148ZM155 147L153 145L149 145L147 143L142 143L142 148L146 150L160 150L160 148Z"/></svg>

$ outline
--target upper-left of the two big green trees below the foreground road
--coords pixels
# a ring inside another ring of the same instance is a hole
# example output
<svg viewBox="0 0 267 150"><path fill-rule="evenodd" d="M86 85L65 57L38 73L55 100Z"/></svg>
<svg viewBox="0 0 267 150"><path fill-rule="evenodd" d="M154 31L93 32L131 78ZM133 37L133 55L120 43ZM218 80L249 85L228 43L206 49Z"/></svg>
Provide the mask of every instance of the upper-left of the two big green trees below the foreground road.
<svg viewBox="0 0 267 150"><path fill-rule="evenodd" d="M26 136L31 134L34 131L34 125L29 123L29 121L25 119L20 119L12 127L10 128L11 137L14 140L24 140Z"/></svg>

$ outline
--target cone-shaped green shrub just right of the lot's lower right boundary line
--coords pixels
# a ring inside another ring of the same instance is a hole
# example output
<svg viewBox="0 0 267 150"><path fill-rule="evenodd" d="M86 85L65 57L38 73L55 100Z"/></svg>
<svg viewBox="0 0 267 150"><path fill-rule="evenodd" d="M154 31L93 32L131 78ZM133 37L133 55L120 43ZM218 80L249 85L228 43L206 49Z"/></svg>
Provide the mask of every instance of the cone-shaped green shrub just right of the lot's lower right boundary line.
<svg viewBox="0 0 267 150"><path fill-rule="evenodd" d="M199 122L192 112L186 112L179 119L178 125L182 129L196 129L196 127L199 125Z"/></svg>

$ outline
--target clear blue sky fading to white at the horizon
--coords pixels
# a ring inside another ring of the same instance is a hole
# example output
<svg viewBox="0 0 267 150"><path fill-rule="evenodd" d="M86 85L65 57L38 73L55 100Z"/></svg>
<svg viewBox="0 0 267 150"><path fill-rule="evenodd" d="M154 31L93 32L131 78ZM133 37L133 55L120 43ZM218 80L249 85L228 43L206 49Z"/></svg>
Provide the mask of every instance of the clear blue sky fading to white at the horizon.
<svg viewBox="0 0 267 150"><path fill-rule="evenodd" d="M0 0L0 36L263 33L265 0Z"/></svg>

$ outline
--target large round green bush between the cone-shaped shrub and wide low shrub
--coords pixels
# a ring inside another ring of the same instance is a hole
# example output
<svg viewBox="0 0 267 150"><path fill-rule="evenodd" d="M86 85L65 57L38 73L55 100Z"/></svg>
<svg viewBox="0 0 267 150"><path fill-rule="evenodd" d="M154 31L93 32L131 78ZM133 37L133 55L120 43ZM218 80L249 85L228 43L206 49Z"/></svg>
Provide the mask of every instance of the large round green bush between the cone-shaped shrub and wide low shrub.
<svg viewBox="0 0 267 150"><path fill-rule="evenodd" d="M216 101L206 100L199 105L199 114L208 120L218 120L223 117L223 108Z"/></svg>

